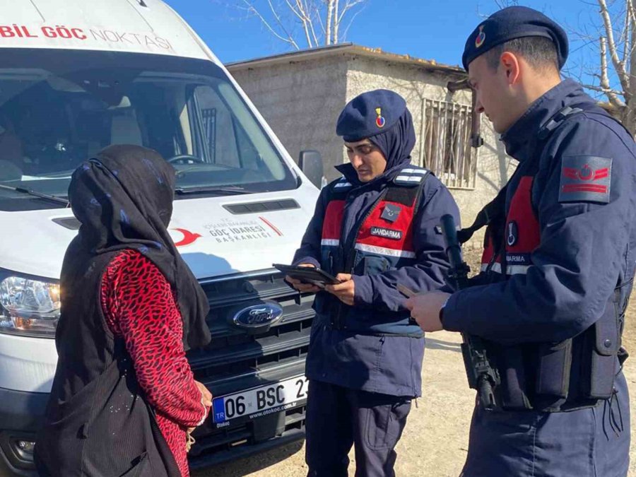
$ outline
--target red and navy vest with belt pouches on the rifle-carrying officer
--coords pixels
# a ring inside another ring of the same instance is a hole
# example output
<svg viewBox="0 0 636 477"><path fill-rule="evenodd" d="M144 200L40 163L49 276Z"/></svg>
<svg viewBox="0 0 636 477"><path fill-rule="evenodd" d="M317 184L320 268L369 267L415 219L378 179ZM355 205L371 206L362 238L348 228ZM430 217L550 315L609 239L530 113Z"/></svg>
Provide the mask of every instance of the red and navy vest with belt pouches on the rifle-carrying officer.
<svg viewBox="0 0 636 477"><path fill-rule="evenodd" d="M565 108L541 130L548 139L579 108ZM471 227L458 232L466 242L475 230L488 225L475 285L507 280L525 274L531 253L540 245L540 227L532 198L537 163L521 163L508 184L478 214ZM617 283L599 320L574 338L560 343L525 343L504 346L485 341L488 355L501 377L495 389L497 407L506 410L566 411L595 406L610 399L614 377L627 353L621 348L625 310L632 281Z"/></svg>

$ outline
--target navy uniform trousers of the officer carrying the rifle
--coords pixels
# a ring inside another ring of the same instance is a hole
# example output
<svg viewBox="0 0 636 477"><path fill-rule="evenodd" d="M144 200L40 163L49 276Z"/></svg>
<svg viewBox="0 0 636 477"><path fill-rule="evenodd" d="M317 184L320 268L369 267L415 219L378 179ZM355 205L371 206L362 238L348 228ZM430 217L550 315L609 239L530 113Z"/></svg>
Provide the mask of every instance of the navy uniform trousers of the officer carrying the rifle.
<svg viewBox="0 0 636 477"><path fill-rule="evenodd" d="M630 399L625 376L594 408L543 413L476 406L461 477L625 477Z"/></svg>

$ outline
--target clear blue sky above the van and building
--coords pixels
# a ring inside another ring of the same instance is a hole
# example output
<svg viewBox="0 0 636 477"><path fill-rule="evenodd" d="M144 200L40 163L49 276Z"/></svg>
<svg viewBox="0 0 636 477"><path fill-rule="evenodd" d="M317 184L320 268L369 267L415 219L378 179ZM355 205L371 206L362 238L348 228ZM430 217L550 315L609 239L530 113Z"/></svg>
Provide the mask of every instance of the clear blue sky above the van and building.
<svg viewBox="0 0 636 477"><path fill-rule="evenodd" d="M240 0L167 0L221 61L239 61L290 51L254 16L233 5ZM256 0L266 5L265 0ZM620 2L617 2L620 3ZM563 25L571 39L566 68L580 76L598 64L596 54L573 32L594 33L599 26L595 0L525 0ZM348 30L347 41L384 51L459 64L466 36L484 16L498 9L494 0L368 0ZM594 35L596 37L596 34Z"/></svg>

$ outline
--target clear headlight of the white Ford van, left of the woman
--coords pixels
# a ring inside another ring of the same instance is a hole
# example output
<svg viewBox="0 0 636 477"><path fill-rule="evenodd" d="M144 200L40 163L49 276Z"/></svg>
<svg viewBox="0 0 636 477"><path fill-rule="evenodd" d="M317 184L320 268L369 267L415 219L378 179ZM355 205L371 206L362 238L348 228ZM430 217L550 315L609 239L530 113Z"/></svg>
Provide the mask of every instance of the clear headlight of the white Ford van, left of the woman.
<svg viewBox="0 0 636 477"><path fill-rule="evenodd" d="M59 283L8 276L0 281L0 333L53 338Z"/></svg>

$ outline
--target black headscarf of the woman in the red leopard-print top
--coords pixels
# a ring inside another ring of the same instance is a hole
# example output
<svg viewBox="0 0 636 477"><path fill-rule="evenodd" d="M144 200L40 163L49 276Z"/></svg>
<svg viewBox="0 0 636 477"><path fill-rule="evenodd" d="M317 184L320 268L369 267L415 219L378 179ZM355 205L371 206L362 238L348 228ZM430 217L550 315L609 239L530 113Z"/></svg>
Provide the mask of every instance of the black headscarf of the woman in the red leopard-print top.
<svg viewBox="0 0 636 477"><path fill-rule="evenodd" d="M175 180L174 168L156 151L110 146L73 172L69 200L90 255L134 249L163 273L177 295L187 350L211 339L209 305L167 232Z"/></svg>

